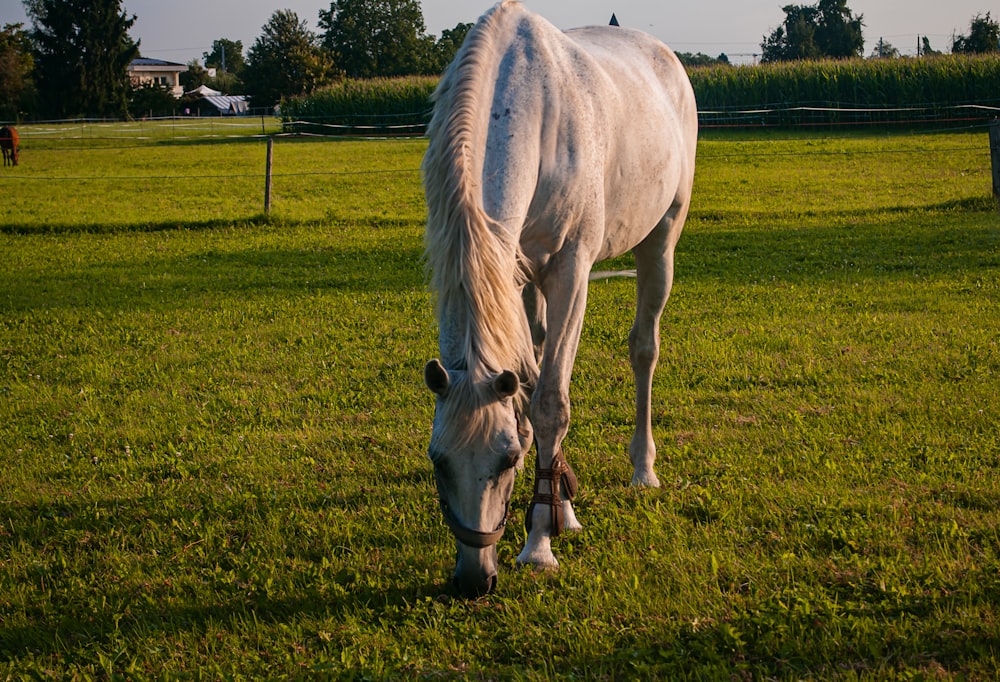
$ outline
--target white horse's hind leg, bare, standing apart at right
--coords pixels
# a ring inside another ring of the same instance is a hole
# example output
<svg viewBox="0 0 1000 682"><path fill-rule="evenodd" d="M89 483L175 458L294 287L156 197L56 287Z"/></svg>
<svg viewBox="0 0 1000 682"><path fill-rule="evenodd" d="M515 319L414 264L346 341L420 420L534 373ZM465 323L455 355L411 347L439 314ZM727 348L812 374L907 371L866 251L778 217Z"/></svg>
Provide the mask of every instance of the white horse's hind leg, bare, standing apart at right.
<svg viewBox="0 0 1000 682"><path fill-rule="evenodd" d="M660 316L674 278L674 245L687 213L675 206L646 239L633 249L636 262L635 322L629 332L629 361L635 376L635 432L629 444L632 485L660 487L653 471L653 372L660 355Z"/></svg>

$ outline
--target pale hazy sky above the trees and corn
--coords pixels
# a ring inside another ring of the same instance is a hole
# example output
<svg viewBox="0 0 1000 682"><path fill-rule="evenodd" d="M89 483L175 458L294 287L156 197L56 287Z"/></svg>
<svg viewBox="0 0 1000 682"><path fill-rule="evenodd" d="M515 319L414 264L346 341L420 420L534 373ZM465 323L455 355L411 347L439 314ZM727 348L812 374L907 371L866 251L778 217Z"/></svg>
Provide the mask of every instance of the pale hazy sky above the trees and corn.
<svg viewBox="0 0 1000 682"><path fill-rule="evenodd" d="M816 0L524 0L525 5L560 28L606 24L614 12L622 26L657 36L679 52L725 52L733 61L747 61L760 52L760 42L778 26L787 4ZM491 6L489 0L424 0L428 33L459 22L475 21ZM201 59L212 41L243 41L244 53L277 9L290 9L318 30L320 9L330 0L124 0L138 17L132 37L142 41L145 57L186 63ZM953 32L967 34L972 17L991 11L1000 19L997 0L848 0L855 14L864 15L865 54L884 38L903 54L916 52L918 36L947 51ZM0 23L26 22L20 0L0 0Z"/></svg>

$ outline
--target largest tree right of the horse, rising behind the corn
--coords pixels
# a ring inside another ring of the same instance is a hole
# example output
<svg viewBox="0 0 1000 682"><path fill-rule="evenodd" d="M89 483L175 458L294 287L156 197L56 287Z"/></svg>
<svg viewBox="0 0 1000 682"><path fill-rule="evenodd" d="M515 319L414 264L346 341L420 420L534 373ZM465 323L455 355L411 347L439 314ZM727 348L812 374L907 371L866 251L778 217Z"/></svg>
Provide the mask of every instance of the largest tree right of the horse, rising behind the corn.
<svg viewBox="0 0 1000 682"><path fill-rule="evenodd" d="M786 5L785 21L761 43L765 62L795 59L844 59L864 52L864 19L854 16L847 0L819 0L816 5Z"/></svg>

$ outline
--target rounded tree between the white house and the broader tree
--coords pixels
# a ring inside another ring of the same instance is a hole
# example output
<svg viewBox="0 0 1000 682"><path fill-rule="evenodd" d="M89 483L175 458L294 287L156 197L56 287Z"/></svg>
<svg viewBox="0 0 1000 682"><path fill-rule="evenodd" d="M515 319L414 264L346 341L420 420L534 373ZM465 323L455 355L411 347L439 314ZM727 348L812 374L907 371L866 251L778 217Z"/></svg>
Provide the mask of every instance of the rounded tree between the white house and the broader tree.
<svg viewBox="0 0 1000 682"><path fill-rule="evenodd" d="M324 84L333 65L316 34L291 10L277 10L247 54L243 82L254 106L308 94Z"/></svg>

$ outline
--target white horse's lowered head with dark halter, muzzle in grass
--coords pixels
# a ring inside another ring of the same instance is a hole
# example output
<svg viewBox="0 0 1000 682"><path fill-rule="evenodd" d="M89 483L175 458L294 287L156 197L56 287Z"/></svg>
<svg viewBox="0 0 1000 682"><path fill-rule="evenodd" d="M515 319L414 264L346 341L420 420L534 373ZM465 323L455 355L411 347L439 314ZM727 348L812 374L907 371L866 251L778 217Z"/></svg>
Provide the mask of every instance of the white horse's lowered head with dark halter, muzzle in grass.
<svg viewBox="0 0 1000 682"><path fill-rule="evenodd" d="M424 368L437 396L429 448L445 523L455 536L455 586L468 597L497 583L496 543L503 536L517 472L531 447L531 425L518 376L481 376Z"/></svg>

